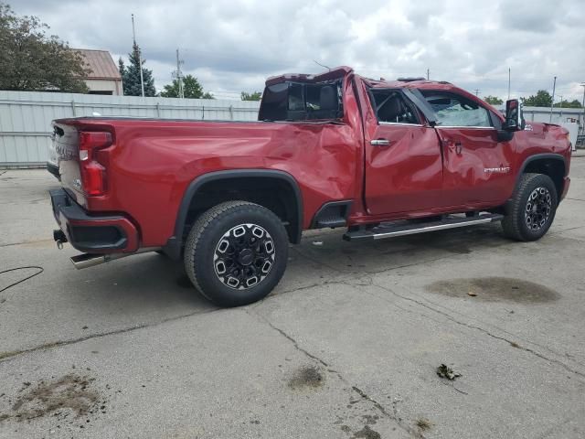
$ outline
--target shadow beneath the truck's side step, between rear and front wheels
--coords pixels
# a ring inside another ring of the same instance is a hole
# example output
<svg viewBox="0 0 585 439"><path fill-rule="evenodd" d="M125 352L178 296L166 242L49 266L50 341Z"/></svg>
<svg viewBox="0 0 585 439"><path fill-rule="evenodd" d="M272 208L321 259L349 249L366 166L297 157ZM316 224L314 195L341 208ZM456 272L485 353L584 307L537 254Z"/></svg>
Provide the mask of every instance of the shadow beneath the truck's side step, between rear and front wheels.
<svg viewBox="0 0 585 439"><path fill-rule="evenodd" d="M498 224L442 230L380 241L342 240L343 230L310 230L301 244L291 246L289 265L273 294L316 284L356 280L406 266L472 255L499 247L512 250L515 242L502 236Z"/></svg>

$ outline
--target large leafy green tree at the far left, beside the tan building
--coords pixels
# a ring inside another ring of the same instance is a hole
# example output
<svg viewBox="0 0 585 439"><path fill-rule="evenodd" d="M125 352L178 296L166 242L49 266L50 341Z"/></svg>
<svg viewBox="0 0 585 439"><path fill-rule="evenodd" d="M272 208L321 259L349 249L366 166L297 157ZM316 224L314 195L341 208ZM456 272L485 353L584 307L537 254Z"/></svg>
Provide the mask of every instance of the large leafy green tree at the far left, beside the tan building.
<svg viewBox="0 0 585 439"><path fill-rule="evenodd" d="M16 16L0 3L0 90L89 91L83 78L91 70L80 52L57 36L36 16Z"/></svg>

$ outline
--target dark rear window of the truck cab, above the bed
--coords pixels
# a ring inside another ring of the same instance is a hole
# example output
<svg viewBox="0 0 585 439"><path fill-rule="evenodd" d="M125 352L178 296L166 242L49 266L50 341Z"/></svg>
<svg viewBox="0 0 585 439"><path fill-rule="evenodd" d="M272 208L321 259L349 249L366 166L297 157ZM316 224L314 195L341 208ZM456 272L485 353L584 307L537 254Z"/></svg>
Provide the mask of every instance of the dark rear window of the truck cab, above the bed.
<svg viewBox="0 0 585 439"><path fill-rule="evenodd" d="M341 80L281 82L264 90L260 121L311 121L343 116Z"/></svg>

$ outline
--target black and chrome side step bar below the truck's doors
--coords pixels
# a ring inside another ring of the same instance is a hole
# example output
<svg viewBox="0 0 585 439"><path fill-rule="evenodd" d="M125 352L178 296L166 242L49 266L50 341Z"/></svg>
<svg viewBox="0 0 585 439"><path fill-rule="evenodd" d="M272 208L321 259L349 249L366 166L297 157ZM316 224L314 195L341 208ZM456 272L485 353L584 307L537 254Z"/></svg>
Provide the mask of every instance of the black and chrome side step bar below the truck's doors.
<svg viewBox="0 0 585 439"><path fill-rule="evenodd" d="M414 235L425 233L427 231L456 229L459 227L474 226L476 224L485 224L487 222L500 221L504 215L496 213L476 215L469 218L445 216L442 219L413 223L382 223L377 227L367 230L347 231L344 235L346 241L356 240L383 240L386 238L395 238L397 236Z"/></svg>

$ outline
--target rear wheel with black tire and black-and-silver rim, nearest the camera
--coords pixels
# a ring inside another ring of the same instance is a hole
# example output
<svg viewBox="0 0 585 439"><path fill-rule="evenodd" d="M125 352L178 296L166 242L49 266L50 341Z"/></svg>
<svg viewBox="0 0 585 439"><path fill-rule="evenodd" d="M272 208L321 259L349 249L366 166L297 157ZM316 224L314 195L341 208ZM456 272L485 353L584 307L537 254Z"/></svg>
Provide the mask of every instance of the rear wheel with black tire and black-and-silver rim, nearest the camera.
<svg viewBox="0 0 585 439"><path fill-rule="evenodd" d="M193 225L186 240L185 271L216 305L248 305L280 282L288 250L286 230L271 210L248 201L227 201L207 210Z"/></svg>

